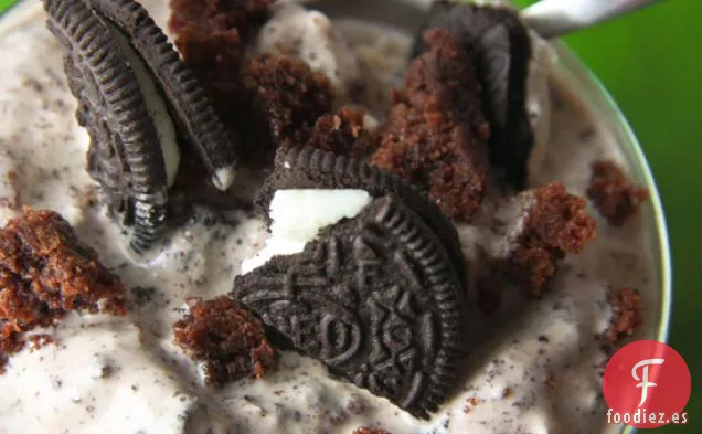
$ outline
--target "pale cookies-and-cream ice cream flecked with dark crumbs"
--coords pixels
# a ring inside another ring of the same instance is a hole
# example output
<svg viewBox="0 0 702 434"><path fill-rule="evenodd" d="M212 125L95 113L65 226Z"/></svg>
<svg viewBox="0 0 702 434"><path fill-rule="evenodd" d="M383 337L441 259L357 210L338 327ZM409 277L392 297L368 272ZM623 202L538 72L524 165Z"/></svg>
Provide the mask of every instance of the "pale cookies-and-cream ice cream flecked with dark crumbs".
<svg viewBox="0 0 702 434"><path fill-rule="evenodd" d="M142 3L164 29L167 2ZM39 2L24 1L0 24L0 223L21 204L60 212L131 288L132 304L120 319L73 316L60 321L43 330L55 337L55 345L14 356L0 375L0 433L302 434L351 433L359 426L394 434L605 431L599 373L606 354L596 337L611 319L607 290L623 285L644 294L656 289L639 221L616 231L603 222L597 240L564 260L541 299L524 303L514 290L507 292L513 297L491 317L471 308L474 351L461 362L456 390L429 421L336 379L320 362L295 352L280 351L278 369L263 380L204 387L196 366L172 343L170 326L181 317L185 298L232 289L244 261L264 248L266 226L245 211L199 208L152 254L130 253L125 235L96 204L95 183L85 171L88 137L74 120L76 103L45 19ZM366 82L390 87L402 73L397 68L405 65L413 36L353 20L336 27L319 12L289 4L273 20L267 25L275 31L264 27L257 50L279 49L276 38L299 35L295 53L345 89L342 95L363 74ZM591 163L619 159L617 142L547 70L530 78L529 109L543 141L530 178L534 187L559 180L584 195ZM353 203L330 220L358 213L368 200L362 193L348 193ZM529 201L528 195L490 198L485 218L459 225L467 258L480 251L507 256Z"/></svg>

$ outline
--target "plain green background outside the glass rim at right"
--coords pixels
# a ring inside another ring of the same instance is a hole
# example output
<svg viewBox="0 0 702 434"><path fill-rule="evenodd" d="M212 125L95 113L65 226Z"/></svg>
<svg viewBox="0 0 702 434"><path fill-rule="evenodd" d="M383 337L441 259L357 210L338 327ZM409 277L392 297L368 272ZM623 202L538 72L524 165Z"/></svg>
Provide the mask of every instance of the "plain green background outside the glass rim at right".
<svg viewBox="0 0 702 434"><path fill-rule="evenodd" d="M36 0L34 0L36 1ZM0 0L0 9L12 3ZM520 4L533 1L517 0ZM692 373L690 424L657 433L702 433L702 0L667 0L565 39L629 119L662 195L673 257L670 342ZM700 223L700 224L698 224Z"/></svg>

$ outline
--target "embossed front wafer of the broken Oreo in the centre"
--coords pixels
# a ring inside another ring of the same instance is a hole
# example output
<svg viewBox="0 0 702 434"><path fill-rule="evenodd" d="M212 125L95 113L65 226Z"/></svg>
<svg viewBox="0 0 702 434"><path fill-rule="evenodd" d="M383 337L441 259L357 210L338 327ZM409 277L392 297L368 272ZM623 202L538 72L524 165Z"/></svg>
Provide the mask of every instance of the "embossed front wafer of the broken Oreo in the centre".
<svg viewBox="0 0 702 434"><path fill-rule="evenodd" d="M234 295L294 348L417 417L454 383L462 285L442 241L398 198L374 199L301 253L237 276Z"/></svg>

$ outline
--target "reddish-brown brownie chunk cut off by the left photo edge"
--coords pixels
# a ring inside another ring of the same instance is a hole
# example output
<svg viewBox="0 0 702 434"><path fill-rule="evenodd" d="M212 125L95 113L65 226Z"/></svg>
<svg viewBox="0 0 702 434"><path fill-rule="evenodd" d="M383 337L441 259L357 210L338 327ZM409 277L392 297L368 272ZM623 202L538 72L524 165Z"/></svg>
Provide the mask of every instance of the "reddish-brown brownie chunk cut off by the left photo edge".
<svg viewBox="0 0 702 434"><path fill-rule="evenodd" d="M126 290L61 215L25 208L0 230L0 371L23 334L72 310L124 316Z"/></svg>

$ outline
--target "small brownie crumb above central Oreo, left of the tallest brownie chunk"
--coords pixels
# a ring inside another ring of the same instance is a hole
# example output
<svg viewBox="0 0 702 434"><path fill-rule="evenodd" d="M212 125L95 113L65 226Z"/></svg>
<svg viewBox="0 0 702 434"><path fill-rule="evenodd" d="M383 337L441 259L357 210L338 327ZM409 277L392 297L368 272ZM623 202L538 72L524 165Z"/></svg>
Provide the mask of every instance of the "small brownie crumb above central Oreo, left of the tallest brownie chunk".
<svg viewBox="0 0 702 434"><path fill-rule="evenodd" d="M362 109L353 107L341 107L336 115L323 115L317 120L307 145L365 159L375 150L375 136L364 129L363 116Z"/></svg>

